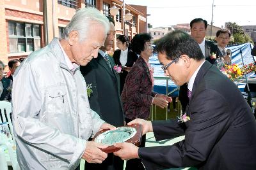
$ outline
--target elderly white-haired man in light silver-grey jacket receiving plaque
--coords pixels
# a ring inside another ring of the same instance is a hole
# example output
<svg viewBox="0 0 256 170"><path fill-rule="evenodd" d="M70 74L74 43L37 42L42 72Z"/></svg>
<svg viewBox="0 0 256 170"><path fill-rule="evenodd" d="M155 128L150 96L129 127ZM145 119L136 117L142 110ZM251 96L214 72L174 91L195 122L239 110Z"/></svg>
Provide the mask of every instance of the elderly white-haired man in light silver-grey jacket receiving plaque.
<svg viewBox="0 0 256 170"><path fill-rule="evenodd" d="M13 127L20 169L76 169L81 158L106 159L100 148L107 146L88 139L115 127L90 109L79 66L97 57L108 31L108 18L83 8L62 38L31 53L15 72Z"/></svg>

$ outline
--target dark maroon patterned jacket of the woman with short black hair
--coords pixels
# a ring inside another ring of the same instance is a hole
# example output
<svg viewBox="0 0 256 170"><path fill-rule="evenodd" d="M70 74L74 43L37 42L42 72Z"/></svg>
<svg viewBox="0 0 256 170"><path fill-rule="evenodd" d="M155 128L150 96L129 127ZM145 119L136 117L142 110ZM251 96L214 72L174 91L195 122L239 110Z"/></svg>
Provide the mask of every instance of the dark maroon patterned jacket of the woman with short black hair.
<svg viewBox="0 0 256 170"><path fill-rule="evenodd" d="M153 96L156 96L152 89L147 63L140 57L128 73L122 92L125 118L148 119Z"/></svg>

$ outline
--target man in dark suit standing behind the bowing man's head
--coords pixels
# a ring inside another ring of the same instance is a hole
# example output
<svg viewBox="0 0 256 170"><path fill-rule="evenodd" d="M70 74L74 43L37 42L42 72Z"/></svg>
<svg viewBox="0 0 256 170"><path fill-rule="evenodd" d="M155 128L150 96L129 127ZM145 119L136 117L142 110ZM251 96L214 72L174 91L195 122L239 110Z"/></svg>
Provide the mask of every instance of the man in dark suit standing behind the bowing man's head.
<svg viewBox="0 0 256 170"><path fill-rule="evenodd" d="M200 46L205 60L208 60L209 62L211 62L211 64L215 64L217 66L216 59L218 59L218 46L213 41L205 39L207 21L202 18L195 18L190 22L190 29L191 37L195 39ZM180 86L179 100L182 106L182 112L185 111L189 101L187 96L187 90L187 84Z"/></svg>

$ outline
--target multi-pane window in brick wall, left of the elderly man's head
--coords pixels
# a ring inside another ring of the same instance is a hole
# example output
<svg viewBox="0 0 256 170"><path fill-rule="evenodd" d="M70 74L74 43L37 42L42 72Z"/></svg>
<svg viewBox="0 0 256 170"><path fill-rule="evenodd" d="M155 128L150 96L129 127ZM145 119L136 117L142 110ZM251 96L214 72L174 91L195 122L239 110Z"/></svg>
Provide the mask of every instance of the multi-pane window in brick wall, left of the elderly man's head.
<svg viewBox="0 0 256 170"><path fill-rule="evenodd" d="M33 52L41 48L40 25L8 22L10 53Z"/></svg>

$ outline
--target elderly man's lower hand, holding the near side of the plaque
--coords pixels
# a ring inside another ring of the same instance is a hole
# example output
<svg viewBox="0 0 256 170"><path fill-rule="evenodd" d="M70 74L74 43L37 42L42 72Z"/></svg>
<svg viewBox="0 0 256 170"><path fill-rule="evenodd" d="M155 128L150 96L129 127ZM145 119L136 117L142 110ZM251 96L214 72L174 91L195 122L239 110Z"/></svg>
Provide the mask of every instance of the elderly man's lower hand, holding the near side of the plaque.
<svg viewBox="0 0 256 170"><path fill-rule="evenodd" d="M100 148L107 148L108 145L102 145L94 141L87 141L86 148L82 158L89 163L101 164L108 157L108 153L102 152Z"/></svg>

